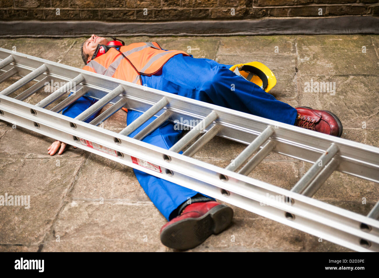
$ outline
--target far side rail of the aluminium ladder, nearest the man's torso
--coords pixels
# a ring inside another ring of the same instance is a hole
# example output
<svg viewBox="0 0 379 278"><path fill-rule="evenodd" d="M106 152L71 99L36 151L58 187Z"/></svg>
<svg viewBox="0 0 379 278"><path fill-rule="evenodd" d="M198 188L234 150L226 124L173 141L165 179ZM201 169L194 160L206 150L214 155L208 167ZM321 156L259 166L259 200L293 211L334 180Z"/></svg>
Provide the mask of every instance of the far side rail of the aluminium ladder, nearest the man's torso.
<svg viewBox="0 0 379 278"><path fill-rule="evenodd" d="M244 144L251 143L263 129L269 124L276 127L275 136L272 138L276 144L274 152L287 155L299 160L314 163L316 156L326 149L331 143L338 144L340 149L340 165L337 171L362 177L367 180L379 182L379 148L367 146L361 143L349 141L342 138L319 134L310 130L290 126L280 122L260 118L243 112L202 103L193 99L184 98L174 94L139 86L126 81L109 78L89 71L80 70L55 62L28 56L25 54L12 54L9 50L0 49L0 58L12 55L16 60L17 68L30 69L38 65L46 64L49 68L51 78L70 80L78 74L85 77L83 84L88 90L88 95L96 98L105 95L117 85L121 85L127 92L128 109L138 110L138 105L156 103L162 97L170 103L171 121L175 123L177 115L187 118L202 119L212 110L219 116L218 125L221 131L218 136L235 140ZM143 88L141 88L143 87ZM117 99L118 100L118 99ZM116 101L116 99L115 99ZM196 114L193 113L196 111ZM143 111L144 112L144 111ZM305 144L306 143L306 144Z"/></svg>

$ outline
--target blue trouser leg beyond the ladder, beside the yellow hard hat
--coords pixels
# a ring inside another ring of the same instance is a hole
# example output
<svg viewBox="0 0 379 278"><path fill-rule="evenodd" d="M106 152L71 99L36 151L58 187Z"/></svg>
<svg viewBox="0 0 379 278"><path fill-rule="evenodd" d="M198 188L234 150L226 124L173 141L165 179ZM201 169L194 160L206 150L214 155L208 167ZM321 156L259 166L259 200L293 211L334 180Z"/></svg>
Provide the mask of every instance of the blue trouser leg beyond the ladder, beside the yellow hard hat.
<svg viewBox="0 0 379 278"><path fill-rule="evenodd" d="M237 76L229 67L178 54L166 62L160 75L142 76L142 81L154 89L294 124L296 109Z"/></svg>

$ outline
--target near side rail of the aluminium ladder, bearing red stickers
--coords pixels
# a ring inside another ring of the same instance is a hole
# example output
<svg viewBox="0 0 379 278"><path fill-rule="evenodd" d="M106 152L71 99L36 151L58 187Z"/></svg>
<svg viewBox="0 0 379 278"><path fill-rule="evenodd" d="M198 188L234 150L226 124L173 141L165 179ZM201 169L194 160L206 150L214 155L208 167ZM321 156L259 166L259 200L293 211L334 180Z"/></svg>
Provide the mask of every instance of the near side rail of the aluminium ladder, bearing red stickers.
<svg viewBox="0 0 379 278"><path fill-rule="evenodd" d="M73 144L74 146L113 159L114 161L121 162L125 165L132 166L136 169L143 168L137 167L138 165L131 162L130 157L128 158L127 155L131 154L140 159L156 163L162 167L163 172L160 173L146 168L142 169L142 171L148 172L149 174L154 174L191 189L196 188L196 190L203 191L204 194L206 194L205 191L207 188L205 188L204 191L201 188L194 187L196 185L191 185L193 184L193 180L203 181L207 185L211 185L211 187L216 186L218 188L219 193L210 194L210 196L219 198L221 195L224 195L223 200L226 200L226 202L230 202L231 196L235 196L235 194L246 197L249 199L246 206L237 204L239 207L242 206L243 208L247 208L249 203L267 203L269 206L260 206L261 210L265 207L265 210L276 210L279 214L276 214L274 217L269 213L259 211L259 213L262 213L262 215L264 214L266 217L279 222L284 221L285 224L290 225L291 227L296 226L304 231L312 230L311 233L314 235L319 235L319 233L323 233L324 230L333 231L331 235L324 238L333 240L334 242L352 248L353 250L362 251L363 248L360 245L364 245L364 242L371 244L370 247L365 248L366 251L379 250L379 222L374 219L334 207L327 203L293 193L277 186L269 185L268 183L214 165L209 165L205 162L194 160L193 158L166 149L152 146L145 142L134 140L133 138L119 135L121 144L116 144L113 141L113 137L117 134L114 132L77 120L74 120L77 129L72 129L69 127L69 122L72 121L71 118L30 104L20 103L20 101L6 96L0 96L0 103L3 104L3 114L0 115L0 119L2 120L16 120L17 124L20 126L24 126L50 137L56 137L56 135L59 134L58 138L62 139L62 141L68 141L68 143ZM29 112L30 109L35 109L36 114L31 115ZM38 121L39 127L37 128L31 125L32 121ZM111 156L94 148L89 148L88 146L80 144L78 141L72 140L74 136L90 138L91 140L94 140L94 142L102 144L102 146L115 149L118 152L124 152L125 156ZM170 162L165 160L162 157L162 154L170 156ZM164 174L165 169L169 169L172 175L169 175L168 172ZM223 182L219 178L220 174L228 176L228 180ZM180 180L180 176L182 176L184 180ZM189 180L191 182L188 182ZM294 200L294 204L288 205L279 200L272 200L271 198L266 197L266 194L287 196ZM284 212L286 211L293 214L295 218L289 220L288 217L285 217L286 214ZM257 211L254 212L257 213ZM303 221L312 222L313 224L311 226L309 224L303 225ZM361 230L359 228L360 223L370 225L370 232ZM322 227L322 229L319 227ZM354 242L356 243L354 244ZM359 242L363 242L363 244L360 244Z"/></svg>

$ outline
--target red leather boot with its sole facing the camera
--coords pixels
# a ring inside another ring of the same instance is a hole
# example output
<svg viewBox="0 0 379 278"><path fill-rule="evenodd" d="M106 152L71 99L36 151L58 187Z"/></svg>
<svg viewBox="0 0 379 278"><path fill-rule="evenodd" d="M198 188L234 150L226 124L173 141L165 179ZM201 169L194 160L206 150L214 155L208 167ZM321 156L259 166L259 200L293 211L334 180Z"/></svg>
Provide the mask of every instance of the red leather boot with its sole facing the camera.
<svg viewBox="0 0 379 278"><path fill-rule="evenodd" d="M232 218L232 208L218 202L191 203L161 228L161 242L178 250L194 248L208 236L225 230Z"/></svg>

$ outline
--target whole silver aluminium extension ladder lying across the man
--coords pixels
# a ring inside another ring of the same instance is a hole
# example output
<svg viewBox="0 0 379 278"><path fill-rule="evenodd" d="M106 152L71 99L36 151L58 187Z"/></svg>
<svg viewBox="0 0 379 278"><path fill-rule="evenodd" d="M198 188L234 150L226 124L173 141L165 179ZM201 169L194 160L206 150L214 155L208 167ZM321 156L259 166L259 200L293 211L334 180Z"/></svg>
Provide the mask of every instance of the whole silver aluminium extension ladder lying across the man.
<svg viewBox="0 0 379 278"><path fill-rule="evenodd" d="M312 198L334 171L379 182L379 148L3 48L0 48L0 71L0 82L15 75L21 77L0 92L0 120L200 191L352 250L379 251L379 202L363 216ZM16 97L9 97L31 81L36 83ZM64 85L37 104L23 102L50 81ZM70 91L75 92L66 98ZM98 101L75 119L59 113L83 95ZM59 104L46 108L58 99ZM112 106L91 123L83 122L108 103ZM119 133L98 126L122 107L144 113ZM128 137L152 117L156 118L151 124L135 137ZM169 150L141 141L164 121L177 123L180 118L180 123L187 120L192 129ZM202 133L183 154L179 154ZM225 169L192 158L216 135L247 145ZM270 152L313 165L291 190L248 177Z"/></svg>

